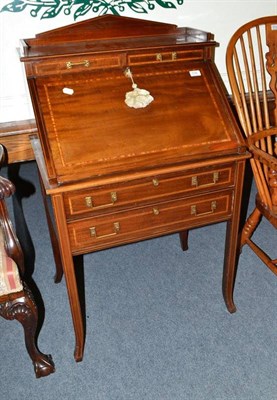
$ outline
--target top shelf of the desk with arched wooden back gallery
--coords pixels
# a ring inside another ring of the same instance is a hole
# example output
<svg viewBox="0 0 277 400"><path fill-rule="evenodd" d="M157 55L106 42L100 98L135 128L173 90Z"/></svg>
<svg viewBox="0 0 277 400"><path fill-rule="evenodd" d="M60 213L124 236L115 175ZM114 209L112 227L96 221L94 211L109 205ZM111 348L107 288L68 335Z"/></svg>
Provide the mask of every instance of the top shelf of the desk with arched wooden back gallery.
<svg viewBox="0 0 277 400"><path fill-rule="evenodd" d="M211 33L199 29L104 15L23 39L21 56L28 61L45 56L203 43L217 45Z"/></svg>

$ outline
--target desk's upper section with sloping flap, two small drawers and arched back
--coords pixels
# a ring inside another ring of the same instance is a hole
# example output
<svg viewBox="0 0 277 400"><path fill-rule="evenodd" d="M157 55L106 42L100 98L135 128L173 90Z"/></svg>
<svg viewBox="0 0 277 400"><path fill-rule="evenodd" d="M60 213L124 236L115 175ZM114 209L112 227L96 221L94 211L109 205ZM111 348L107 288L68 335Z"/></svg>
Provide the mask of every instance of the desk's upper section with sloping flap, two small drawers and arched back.
<svg viewBox="0 0 277 400"><path fill-rule="evenodd" d="M132 29L108 40L113 24L124 21ZM22 60L30 87L36 87L33 102L52 183L240 151L224 93L215 83L212 35L141 24L105 16L25 41ZM78 26L86 40L77 45ZM157 30L163 32L158 41ZM66 46L63 32L70 38ZM146 107L125 103L134 82L154 98Z"/></svg>

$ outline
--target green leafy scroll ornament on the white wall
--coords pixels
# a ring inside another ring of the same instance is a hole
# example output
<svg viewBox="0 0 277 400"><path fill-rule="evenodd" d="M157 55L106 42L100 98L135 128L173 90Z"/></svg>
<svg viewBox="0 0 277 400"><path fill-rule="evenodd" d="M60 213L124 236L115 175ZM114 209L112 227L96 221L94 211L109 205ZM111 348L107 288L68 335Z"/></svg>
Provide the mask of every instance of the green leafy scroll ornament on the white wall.
<svg viewBox="0 0 277 400"><path fill-rule="evenodd" d="M184 0L13 0L4 5L0 12L18 13L29 9L32 17L40 19L54 18L63 12L65 15L73 14L76 20L88 12L97 16L121 15L126 9L130 9L135 13L147 14L155 10L156 6L172 9L183 3Z"/></svg>

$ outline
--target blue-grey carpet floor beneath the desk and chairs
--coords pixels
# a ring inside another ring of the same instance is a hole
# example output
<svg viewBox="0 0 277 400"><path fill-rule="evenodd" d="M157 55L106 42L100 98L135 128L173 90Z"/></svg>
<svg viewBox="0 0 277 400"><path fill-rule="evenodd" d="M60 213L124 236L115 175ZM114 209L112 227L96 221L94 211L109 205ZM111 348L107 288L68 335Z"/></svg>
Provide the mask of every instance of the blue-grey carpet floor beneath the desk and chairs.
<svg viewBox="0 0 277 400"><path fill-rule="evenodd" d="M76 363L65 283L53 282L35 164L23 165L21 175L36 187L22 204L45 305L39 346L52 354L56 373L36 380L20 324L0 319L1 399L277 399L277 279L245 247L238 310L227 312L225 224L191 231L187 252L171 235L85 256L87 336L84 360ZM258 236L276 249L267 222Z"/></svg>

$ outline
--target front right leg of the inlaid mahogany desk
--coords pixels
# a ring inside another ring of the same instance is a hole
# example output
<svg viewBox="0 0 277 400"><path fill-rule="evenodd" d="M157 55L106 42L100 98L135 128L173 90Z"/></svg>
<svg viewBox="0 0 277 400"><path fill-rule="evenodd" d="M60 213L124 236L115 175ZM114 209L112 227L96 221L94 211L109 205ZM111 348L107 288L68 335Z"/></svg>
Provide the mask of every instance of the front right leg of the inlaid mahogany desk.
<svg viewBox="0 0 277 400"><path fill-rule="evenodd" d="M226 307L230 313L234 313L236 311L236 306L233 300L233 291L240 251L238 234L240 227L244 169L245 161L239 161L237 165L236 184L234 188L233 212L231 219L227 222L226 228L222 291Z"/></svg>

